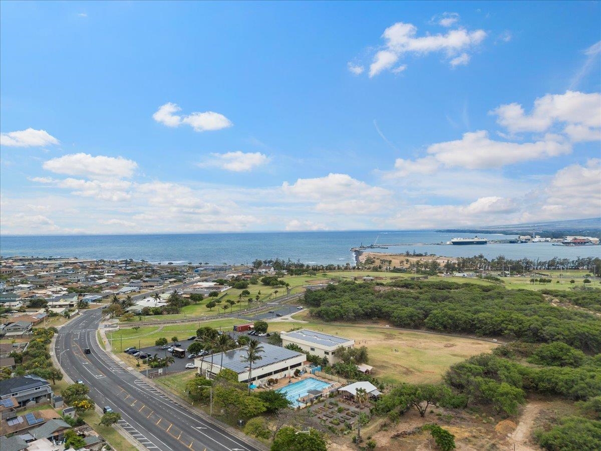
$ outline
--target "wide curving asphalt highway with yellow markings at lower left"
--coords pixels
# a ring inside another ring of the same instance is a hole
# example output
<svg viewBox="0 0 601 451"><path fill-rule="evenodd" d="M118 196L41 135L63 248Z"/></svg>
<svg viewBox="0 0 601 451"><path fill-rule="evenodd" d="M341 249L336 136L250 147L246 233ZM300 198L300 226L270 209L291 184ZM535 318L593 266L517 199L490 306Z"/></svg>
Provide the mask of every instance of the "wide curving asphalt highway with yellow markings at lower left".
<svg viewBox="0 0 601 451"><path fill-rule="evenodd" d="M258 451L114 361L96 339L101 317L99 308L82 311L59 330L54 352L71 379L90 387L89 396L97 406L108 405L121 414L119 424L142 446L153 451ZM85 348L91 354L84 354Z"/></svg>

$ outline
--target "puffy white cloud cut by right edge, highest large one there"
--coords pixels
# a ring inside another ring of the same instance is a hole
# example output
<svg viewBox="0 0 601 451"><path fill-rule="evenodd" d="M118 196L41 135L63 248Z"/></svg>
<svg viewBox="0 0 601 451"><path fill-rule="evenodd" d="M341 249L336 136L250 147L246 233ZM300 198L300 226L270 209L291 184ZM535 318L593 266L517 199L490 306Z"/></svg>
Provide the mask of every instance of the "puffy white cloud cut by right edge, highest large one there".
<svg viewBox="0 0 601 451"><path fill-rule="evenodd" d="M497 123L511 133L545 132L556 123L578 125L591 129L601 127L601 94L566 91L565 94L546 94L534 101L530 114L522 105L509 103L493 109ZM575 135L583 137L582 129Z"/></svg>

